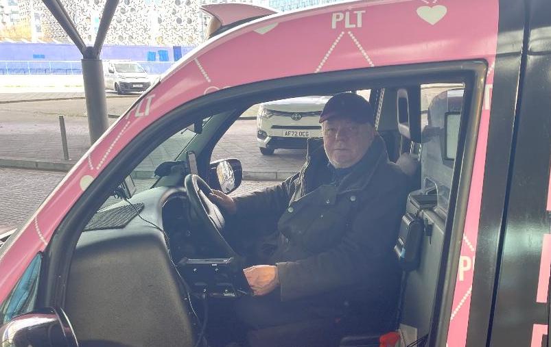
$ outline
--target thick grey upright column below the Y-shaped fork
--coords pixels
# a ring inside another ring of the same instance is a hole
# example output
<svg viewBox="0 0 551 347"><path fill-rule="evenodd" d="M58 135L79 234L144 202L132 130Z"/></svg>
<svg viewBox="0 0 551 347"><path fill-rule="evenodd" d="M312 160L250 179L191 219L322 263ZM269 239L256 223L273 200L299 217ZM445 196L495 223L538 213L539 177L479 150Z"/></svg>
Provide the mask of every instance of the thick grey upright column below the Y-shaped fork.
<svg viewBox="0 0 551 347"><path fill-rule="evenodd" d="M98 58L82 59L82 79L84 80L84 96L88 112L90 144L93 144L109 125L102 60Z"/></svg>

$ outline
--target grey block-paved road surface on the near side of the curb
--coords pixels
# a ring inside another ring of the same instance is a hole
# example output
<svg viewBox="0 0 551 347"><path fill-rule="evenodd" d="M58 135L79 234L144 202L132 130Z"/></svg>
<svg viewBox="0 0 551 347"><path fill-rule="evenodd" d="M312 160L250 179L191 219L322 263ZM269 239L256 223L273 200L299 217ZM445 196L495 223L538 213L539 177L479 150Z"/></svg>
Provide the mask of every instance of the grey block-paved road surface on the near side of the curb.
<svg viewBox="0 0 551 347"><path fill-rule="evenodd" d="M63 177L65 172L0 168L0 234L22 227ZM136 183L139 192L149 188L152 180ZM276 183L243 181L232 195L239 196Z"/></svg>

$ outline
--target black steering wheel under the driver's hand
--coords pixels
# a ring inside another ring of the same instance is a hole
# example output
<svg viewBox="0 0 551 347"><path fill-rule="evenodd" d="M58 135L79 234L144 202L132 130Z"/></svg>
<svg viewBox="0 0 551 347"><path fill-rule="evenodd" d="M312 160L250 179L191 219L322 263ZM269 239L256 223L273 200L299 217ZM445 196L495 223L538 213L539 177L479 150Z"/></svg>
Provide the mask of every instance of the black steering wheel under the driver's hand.
<svg viewBox="0 0 551 347"><path fill-rule="evenodd" d="M184 187L191 207L191 218L196 220L198 227L215 243L218 249L226 252L228 257L237 256L235 250L222 236L226 222L220 208L209 199L212 189L207 182L198 175L189 174L184 179Z"/></svg>

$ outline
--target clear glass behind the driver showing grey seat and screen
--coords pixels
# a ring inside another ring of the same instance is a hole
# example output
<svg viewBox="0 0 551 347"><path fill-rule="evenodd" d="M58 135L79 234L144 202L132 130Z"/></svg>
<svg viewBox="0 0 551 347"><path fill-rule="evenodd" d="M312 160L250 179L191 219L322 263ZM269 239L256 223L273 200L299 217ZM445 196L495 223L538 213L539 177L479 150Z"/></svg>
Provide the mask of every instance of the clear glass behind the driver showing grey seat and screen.
<svg viewBox="0 0 551 347"><path fill-rule="evenodd" d="M437 208L444 214L452 186L462 101L462 84L421 86L421 188L427 194L437 194Z"/></svg>

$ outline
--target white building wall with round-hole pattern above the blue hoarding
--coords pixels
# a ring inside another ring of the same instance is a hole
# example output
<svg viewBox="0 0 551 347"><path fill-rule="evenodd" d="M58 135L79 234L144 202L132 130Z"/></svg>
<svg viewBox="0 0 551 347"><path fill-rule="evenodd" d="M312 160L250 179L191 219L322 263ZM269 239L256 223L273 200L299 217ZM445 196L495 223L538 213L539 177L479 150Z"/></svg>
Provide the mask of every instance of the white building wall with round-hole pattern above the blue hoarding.
<svg viewBox="0 0 551 347"><path fill-rule="evenodd" d="M209 16L200 11L205 3L243 2L270 5L279 11L296 10L336 0L120 0L111 21L106 44L194 46L203 40ZM91 44L106 0L61 0L84 42ZM21 21L38 21L34 38L71 42L41 0L17 0Z"/></svg>

